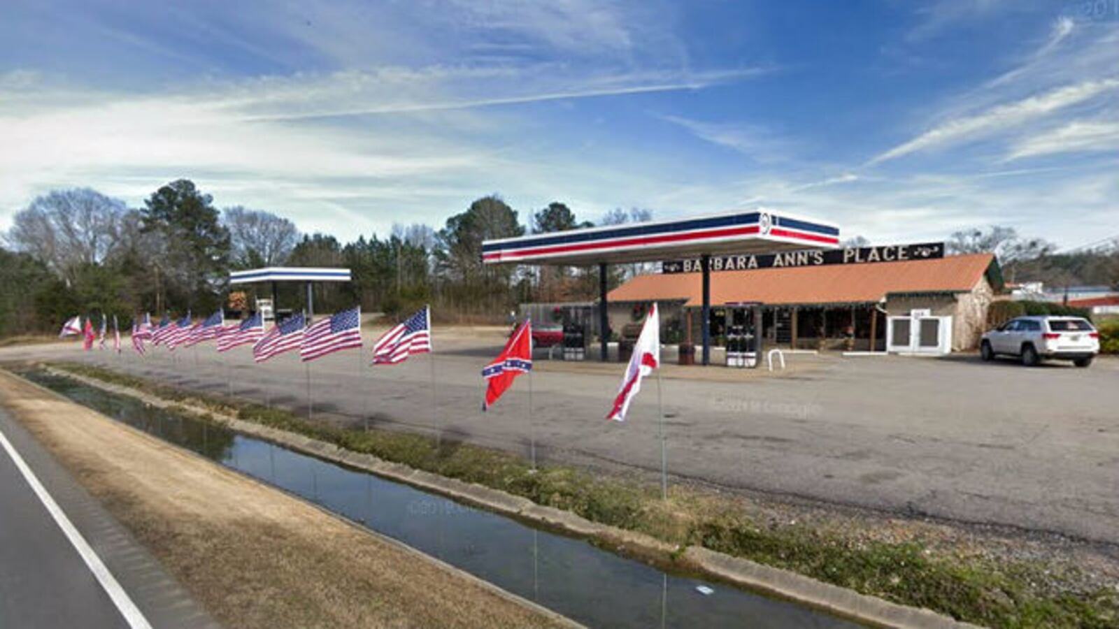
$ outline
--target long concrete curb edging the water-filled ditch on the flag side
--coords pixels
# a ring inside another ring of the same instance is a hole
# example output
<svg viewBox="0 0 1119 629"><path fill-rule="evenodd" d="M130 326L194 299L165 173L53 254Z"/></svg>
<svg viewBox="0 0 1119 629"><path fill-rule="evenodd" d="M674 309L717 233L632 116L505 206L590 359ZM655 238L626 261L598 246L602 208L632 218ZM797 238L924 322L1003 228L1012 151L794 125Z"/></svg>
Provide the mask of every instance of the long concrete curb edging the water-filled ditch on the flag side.
<svg viewBox="0 0 1119 629"><path fill-rule="evenodd" d="M631 552L637 551L646 555L655 554L665 556L679 553L680 551L680 548L673 544L642 533L594 523L571 511L537 505L528 498L514 496L481 485L417 470L402 463L379 459L373 454L344 450L332 443L246 422L228 415L219 415L207 409L169 402L130 387L105 383L63 369L49 366L45 367L45 369L54 375L68 377L102 391L141 400L152 406L161 409L177 406L195 414L210 416L244 434L272 441L329 461L363 469L384 478L470 503L495 513L558 528L571 535L606 541L615 546L623 546ZM683 551L683 557L687 566L702 574L865 625L908 629L978 627L929 609L908 607L869 594L861 594L854 590L824 583L822 581L817 581L788 570L763 565L700 546L687 546Z"/></svg>

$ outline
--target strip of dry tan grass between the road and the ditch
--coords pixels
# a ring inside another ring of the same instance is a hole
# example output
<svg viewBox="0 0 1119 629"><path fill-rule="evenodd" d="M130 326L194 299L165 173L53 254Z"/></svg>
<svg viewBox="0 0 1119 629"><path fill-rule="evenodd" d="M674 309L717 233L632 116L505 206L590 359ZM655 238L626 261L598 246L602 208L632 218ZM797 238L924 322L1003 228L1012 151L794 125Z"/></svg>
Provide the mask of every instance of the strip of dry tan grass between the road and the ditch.
<svg viewBox="0 0 1119 629"><path fill-rule="evenodd" d="M228 627L558 626L416 553L11 376L0 375L0 401Z"/></svg>

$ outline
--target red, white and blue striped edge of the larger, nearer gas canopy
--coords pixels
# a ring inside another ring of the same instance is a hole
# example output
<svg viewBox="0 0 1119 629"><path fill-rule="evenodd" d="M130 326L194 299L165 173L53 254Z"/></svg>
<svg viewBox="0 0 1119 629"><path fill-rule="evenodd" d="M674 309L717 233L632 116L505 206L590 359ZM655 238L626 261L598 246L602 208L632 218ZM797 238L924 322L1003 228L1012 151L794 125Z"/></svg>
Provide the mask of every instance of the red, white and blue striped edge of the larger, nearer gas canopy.
<svg viewBox="0 0 1119 629"><path fill-rule="evenodd" d="M839 246L839 227L764 209L485 241L487 264L586 265Z"/></svg>

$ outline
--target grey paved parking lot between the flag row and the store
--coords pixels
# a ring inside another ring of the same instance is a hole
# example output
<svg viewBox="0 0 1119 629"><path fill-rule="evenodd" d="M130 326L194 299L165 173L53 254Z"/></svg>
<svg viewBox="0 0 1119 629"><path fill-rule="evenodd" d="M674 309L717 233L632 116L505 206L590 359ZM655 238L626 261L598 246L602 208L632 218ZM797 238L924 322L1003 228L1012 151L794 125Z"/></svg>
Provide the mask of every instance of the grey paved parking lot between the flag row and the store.
<svg viewBox="0 0 1119 629"><path fill-rule="evenodd" d="M659 469L656 381L646 384L630 421L619 424L603 416L621 365L617 373L586 374L540 364L532 428L526 382L490 412L480 411L479 370L493 351L476 345L439 356L436 415L426 357L358 373L354 353L311 367L317 414L354 424L368 416L405 430L444 426L471 442L526 453L535 431L544 458ZM73 346L20 353L104 360ZM0 351L0 359L16 354ZM294 356L263 367L253 366L247 351L227 359L204 349L196 367L190 350L177 362L157 350L142 360L125 355L119 366L305 410L304 366ZM669 471L777 495L1119 543L1117 383L1117 360L1031 369L967 357L833 358L816 369L739 383L666 378Z"/></svg>

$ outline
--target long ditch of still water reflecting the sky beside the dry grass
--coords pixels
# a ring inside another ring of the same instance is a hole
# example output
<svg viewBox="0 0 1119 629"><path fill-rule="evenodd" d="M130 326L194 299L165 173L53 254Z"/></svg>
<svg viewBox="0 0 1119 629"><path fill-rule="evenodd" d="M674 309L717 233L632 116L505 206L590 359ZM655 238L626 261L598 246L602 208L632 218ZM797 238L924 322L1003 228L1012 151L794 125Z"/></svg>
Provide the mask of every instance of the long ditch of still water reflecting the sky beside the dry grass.
<svg viewBox="0 0 1119 629"><path fill-rule="evenodd" d="M793 603L669 574L393 482L41 372L23 374L140 430L364 524L594 627L852 627ZM698 593L708 585L711 595Z"/></svg>

